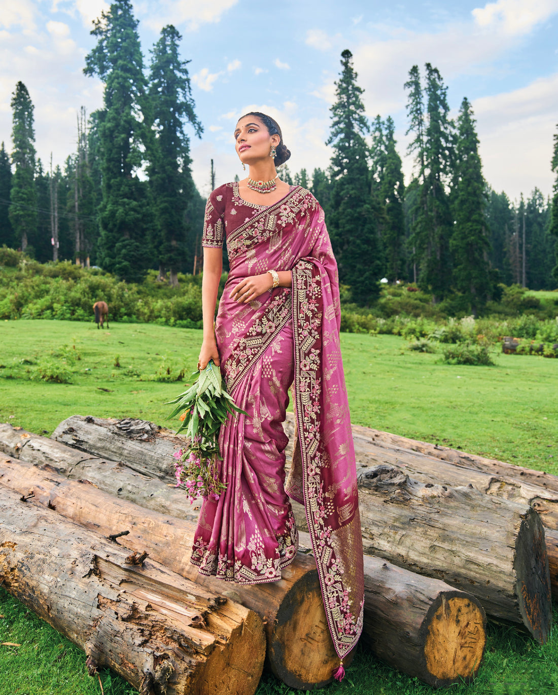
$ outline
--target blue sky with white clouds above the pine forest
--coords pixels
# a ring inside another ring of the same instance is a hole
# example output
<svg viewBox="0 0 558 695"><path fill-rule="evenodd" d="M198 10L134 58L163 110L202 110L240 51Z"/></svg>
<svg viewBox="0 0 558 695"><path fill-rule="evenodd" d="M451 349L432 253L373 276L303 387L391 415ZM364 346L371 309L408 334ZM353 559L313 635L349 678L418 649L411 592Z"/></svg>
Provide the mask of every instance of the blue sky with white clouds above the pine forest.
<svg viewBox="0 0 558 695"><path fill-rule="evenodd" d="M77 112L102 107L103 85L83 74L103 0L0 0L0 140L11 149L17 81L35 105L38 156L63 165L74 152ZM552 136L558 124L558 0L136 0L145 64L162 26L182 34L196 113L192 170L202 195L242 169L232 133L247 111L278 120L292 172L325 168L330 106L344 49L353 54L366 114L391 115L406 182L404 83L410 67L438 67L456 116L472 102L484 176L509 197L552 192Z"/></svg>

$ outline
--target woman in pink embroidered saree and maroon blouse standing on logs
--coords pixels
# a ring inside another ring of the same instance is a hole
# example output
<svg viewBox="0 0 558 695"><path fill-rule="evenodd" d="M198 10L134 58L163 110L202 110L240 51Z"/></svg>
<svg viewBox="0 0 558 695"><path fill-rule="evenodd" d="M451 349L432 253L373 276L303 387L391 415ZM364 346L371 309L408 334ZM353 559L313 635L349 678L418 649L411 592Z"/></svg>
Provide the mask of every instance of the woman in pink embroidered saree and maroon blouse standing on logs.
<svg viewBox="0 0 558 695"><path fill-rule="evenodd" d="M221 428L227 488L202 505L191 562L243 584L279 580L298 547L289 496L303 503L342 660L362 631L363 569L337 265L317 200L278 180L276 166L290 156L278 124L248 113L234 138L249 174L207 201L198 368L209 359L220 365L246 416ZM214 328L225 236L230 273ZM281 423L291 384L298 441L285 484Z"/></svg>

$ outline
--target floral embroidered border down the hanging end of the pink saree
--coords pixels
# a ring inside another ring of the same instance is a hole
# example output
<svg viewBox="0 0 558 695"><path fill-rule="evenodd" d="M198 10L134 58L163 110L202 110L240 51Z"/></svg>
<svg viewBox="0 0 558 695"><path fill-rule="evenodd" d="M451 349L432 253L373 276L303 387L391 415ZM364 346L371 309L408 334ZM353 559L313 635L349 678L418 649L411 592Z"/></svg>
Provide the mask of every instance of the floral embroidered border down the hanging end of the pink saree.
<svg viewBox="0 0 558 695"><path fill-rule="evenodd" d="M341 523L340 518L339 528L328 525L326 517L332 513L333 505L321 475L321 469L331 465L321 436L320 396L324 379L321 275L317 264L307 260L298 261L292 275L294 395L304 507L328 628L335 651L342 659L356 646L362 632L363 605L351 566L356 564L351 560L356 560L358 551L353 548L355 533L360 540L358 504L349 523Z"/></svg>

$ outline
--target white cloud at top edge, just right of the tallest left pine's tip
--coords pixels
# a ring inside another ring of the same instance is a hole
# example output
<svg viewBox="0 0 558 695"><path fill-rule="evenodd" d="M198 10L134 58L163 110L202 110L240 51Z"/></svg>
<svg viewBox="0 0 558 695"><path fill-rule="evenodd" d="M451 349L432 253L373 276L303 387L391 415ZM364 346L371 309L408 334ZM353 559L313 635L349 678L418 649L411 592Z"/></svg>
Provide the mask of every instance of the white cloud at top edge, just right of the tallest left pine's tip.
<svg viewBox="0 0 558 695"><path fill-rule="evenodd" d="M221 15L237 2L238 0L159 0L158 3L147 3L147 9L144 11L147 17L143 17L143 21L157 31L166 24L185 24L189 31L194 31L200 24L218 22ZM158 6L157 9L154 5Z"/></svg>

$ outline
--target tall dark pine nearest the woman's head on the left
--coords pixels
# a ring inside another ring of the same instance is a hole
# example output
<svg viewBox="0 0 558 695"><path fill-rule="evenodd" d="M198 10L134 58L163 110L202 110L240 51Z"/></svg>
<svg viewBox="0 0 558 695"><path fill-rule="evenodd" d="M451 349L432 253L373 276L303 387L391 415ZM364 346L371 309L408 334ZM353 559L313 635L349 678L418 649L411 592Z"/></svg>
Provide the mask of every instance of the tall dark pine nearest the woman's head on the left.
<svg viewBox="0 0 558 695"><path fill-rule="evenodd" d="M184 122L189 122L198 137L202 126L194 112L190 78L181 60L178 44L182 36L174 26L165 26L152 51L150 74L150 116L153 127L148 169L157 220L154 250L159 274L170 270L170 284L177 285L177 272L189 261L189 234L186 208L193 188L189 156L189 137Z"/></svg>

